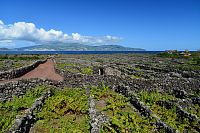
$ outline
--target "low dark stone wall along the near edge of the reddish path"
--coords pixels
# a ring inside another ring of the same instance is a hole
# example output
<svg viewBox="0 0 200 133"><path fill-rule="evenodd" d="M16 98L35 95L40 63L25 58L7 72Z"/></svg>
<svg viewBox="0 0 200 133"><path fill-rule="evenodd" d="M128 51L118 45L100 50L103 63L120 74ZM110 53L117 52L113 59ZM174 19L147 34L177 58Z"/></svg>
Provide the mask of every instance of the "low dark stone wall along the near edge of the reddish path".
<svg viewBox="0 0 200 133"><path fill-rule="evenodd" d="M13 96L22 96L27 90L35 88L38 85L54 85L63 88L62 82L42 80L42 79L27 79L13 81L5 84L0 84L0 101L6 101L13 98Z"/></svg>

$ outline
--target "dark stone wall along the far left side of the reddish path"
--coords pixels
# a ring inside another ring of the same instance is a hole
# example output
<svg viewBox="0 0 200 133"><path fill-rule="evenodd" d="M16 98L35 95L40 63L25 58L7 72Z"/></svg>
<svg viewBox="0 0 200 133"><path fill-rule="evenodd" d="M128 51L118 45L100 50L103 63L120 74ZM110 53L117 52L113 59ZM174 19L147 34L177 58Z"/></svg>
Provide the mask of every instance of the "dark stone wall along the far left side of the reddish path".
<svg viewBox="0 0 200 133"><path fill-rule="evenodd" d="M45 63L46 61L47 60L38 60L38 61L34 62L33 64L28 65L28 66L24 66L24 67L20 67L20 68L17 68L17 69L1 72L0 73L0 80L18 78L18 77L26 74L27 72L35 69L40 64Z"/></svg>

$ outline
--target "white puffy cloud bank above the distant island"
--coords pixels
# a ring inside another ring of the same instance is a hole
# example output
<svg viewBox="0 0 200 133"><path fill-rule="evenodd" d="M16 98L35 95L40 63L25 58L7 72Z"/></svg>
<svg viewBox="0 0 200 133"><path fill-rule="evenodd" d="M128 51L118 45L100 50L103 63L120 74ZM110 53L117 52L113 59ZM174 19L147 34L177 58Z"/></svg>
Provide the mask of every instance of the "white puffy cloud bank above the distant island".
<svg viewBox="0 0 200 133"><path fill-rule="evenodd" d="M36 44L48 43L81 43L101 45L119 42L120 37L106 36L82 36L79 33L68 35L62 31L37 28L33 23L16 22L6 25L0 20L0 43L11 43L14 40L30 41Z"/></svg>

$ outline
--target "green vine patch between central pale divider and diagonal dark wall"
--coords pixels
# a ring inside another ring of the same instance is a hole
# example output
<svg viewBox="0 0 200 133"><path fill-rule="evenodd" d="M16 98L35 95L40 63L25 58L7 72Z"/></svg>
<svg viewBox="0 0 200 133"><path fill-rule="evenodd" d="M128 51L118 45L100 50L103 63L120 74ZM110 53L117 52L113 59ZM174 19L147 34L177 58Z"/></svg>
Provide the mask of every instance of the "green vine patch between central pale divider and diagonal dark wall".
<svg viewBox="0 0 200 133"><path fill-rule="evenodd" d="M102 127L102 133L155 132L155 120L141 117L134 112L129 98L113 92L104 85L93 87L91 95L98 100L96 108L110 118L110 122Z"/></svg>

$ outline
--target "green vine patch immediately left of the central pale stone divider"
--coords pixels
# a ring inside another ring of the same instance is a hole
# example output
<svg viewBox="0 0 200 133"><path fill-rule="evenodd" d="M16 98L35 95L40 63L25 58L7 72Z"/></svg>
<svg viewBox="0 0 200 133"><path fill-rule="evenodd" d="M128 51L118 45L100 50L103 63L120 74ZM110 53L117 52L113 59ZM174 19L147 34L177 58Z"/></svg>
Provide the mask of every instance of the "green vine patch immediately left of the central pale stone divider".
<svg viewBox="0 0 200 133"><path fill-rule="evenodd" d="M88 98L83 89L54 90L45 101L35 132L89 132Z"/></svg>

